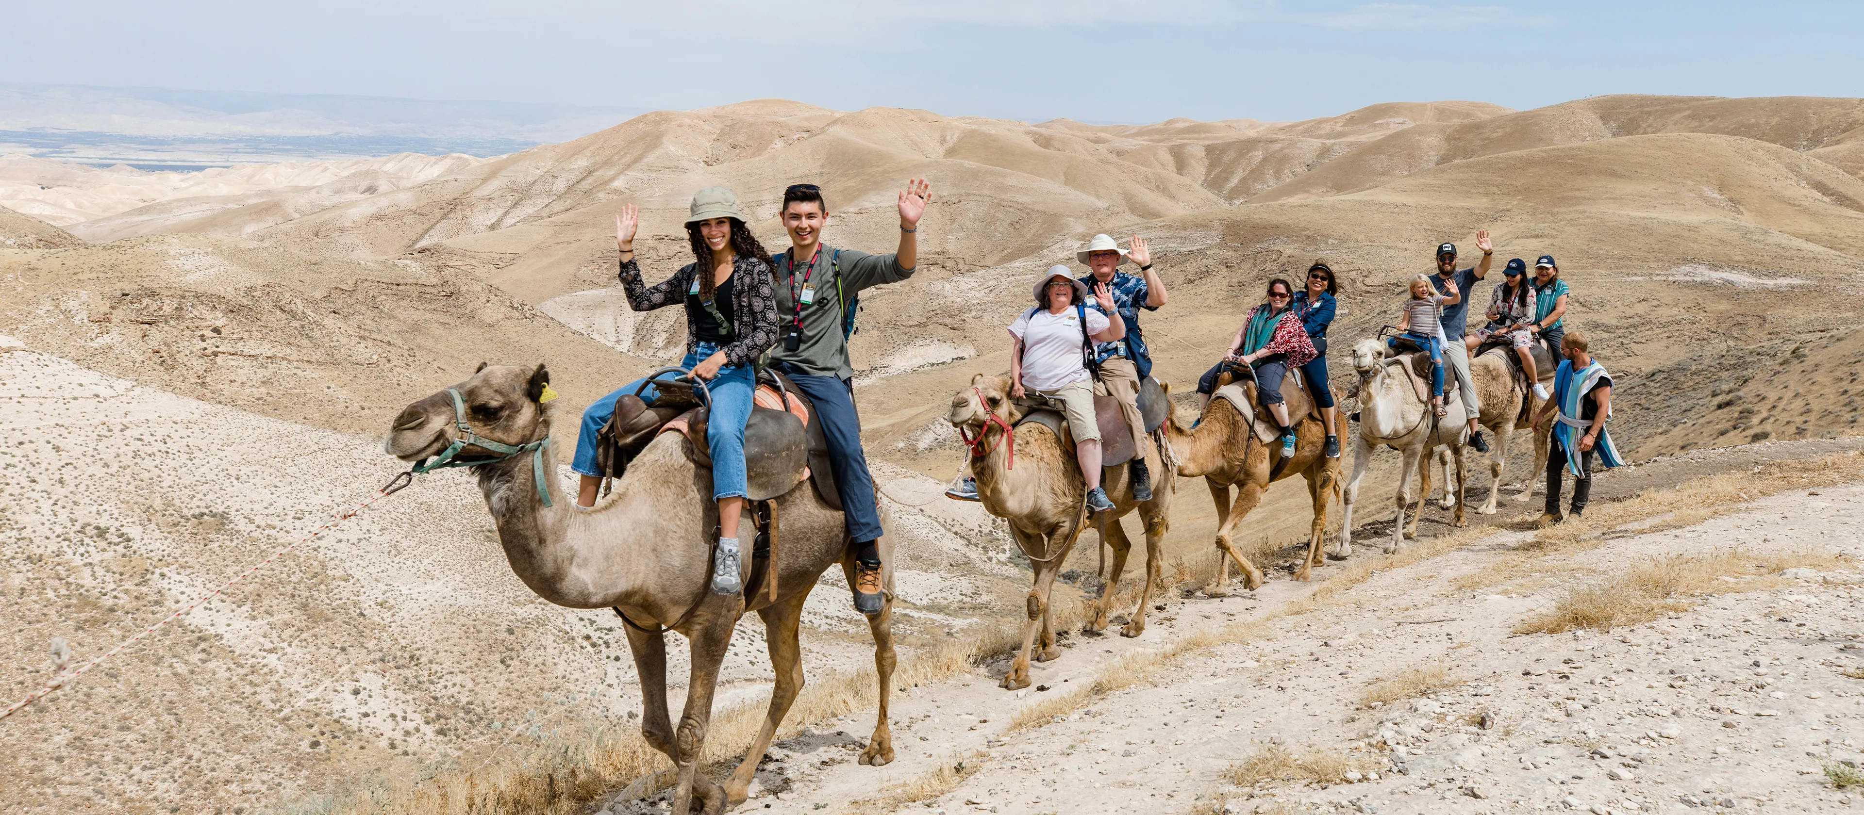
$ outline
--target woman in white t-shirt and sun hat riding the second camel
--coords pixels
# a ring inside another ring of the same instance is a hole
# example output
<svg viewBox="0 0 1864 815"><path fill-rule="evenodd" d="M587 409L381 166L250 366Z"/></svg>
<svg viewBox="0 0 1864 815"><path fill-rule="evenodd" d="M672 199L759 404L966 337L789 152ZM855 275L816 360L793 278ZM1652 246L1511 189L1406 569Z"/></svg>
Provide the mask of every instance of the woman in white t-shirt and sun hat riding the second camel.
<svg viewBox="0 0 1864 815"><path fill-rule="evenodd" d="M1087 287L1074 279L1068 266L1049 266L1035 285L1035 298L1036 307L1010 324L1010 396L1042 396L1068 417L1074 454L1087 480L1087 508L1111 510L1113 501L1100 488L1100 424L1094 421L1094 374L1087 370L1087 355L1094 342L1124 339L1126 322L1113 307L1113 290L1105 283L1094 287L1100 311L1083 307Z"/></svg>

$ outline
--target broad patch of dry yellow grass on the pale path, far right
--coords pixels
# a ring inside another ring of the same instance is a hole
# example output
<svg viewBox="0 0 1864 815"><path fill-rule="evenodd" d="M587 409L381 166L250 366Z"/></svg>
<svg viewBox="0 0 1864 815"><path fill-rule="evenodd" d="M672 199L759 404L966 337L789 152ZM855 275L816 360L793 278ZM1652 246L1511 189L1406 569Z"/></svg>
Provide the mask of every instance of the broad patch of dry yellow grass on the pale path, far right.
<svg viewBox="0 0 1864 815"><path fill-rule="evenodd" d="M1771 575L1795 566L1832 569L1849 562L1851 558L1843 554L1812 549L1786 553L1724 549L1704 556L1670 556L1640 564L1605 582L1573 588L1553 608L1523 620L1515 633L1610 631L1620 625L1648 623L1689 608L1694 597L1706 594L1773 588L1780 581Z"/></svg>

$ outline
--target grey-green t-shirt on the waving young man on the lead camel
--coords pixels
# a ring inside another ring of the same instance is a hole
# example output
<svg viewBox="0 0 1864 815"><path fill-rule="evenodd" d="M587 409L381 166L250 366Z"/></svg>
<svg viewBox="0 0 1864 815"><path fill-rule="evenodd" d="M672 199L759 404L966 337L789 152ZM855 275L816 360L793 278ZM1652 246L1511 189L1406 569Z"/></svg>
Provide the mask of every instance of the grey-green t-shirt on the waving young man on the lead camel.
<svg viewBox="0 0 1864 815"><path fill-rule="evenodd" d="M856 249L835 249L820 244L815 270L809 259L790 264L790 251L777 255L772 275L777 288L777 344L770 350L770 359L790 363L811 376L854 378L854 365L848 363L848 337L843 333L841 294L854 298L859 290L882 283L898 283L913 275L902 268L898 255L869 255ZM841 294L835 288L835 274L841 272ZM807 283L803 283L807 277ZM803 296L809 288L813 296ZM809 300L796 311L798 300ZM802 344L785 350L783 335L794 320L802 318Z"/></svg>

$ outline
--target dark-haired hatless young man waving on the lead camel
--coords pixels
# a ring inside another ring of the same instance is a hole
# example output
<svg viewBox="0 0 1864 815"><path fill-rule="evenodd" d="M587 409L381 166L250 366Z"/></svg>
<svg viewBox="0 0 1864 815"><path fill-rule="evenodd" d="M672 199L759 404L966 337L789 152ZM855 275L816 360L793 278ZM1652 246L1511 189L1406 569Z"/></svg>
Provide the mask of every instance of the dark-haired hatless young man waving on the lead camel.
<svg viewBox="0 0 1864 815"><path fill-rule="evenodd" d="M880 614L884 601L882 528L874 476L861 450L861 415L854 409L848 335L861 288L904 281L919 266L919 218L928 201L932 186L925 179L911 179L900 190L900 249L893 255L822 244L828 203L815 184L790 184L777 212L790 233L790 247L772 259L779 326L770 367L809 396L822 421L856 560L854 608L867 616Z"/></svg>

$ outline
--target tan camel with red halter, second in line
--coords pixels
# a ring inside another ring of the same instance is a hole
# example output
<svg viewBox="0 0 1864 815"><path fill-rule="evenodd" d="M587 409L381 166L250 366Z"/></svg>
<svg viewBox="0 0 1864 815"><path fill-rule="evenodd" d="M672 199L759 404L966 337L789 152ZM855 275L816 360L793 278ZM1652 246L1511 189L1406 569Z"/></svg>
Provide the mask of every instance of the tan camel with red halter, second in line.
<svg viewBox="0 0 1864 815"><path fill-rule="evenodd" d="M1087 484L1081 480L1081 467L1049 428L1036 422L1018 428L1016 422L1021 417L1021 408L1010 398L1010 378L984 374L973 376L971 387L951 398L951 415L947 417L953 426L980 434L969 458L971 476L977 478L977 497L984 502L984 512L1010 521L1010 538L1016 540L1018 549L1035 569L1035 586L1027 599L1029 621L1023 623L1023 648L1001 683L1010 690L1029 687L1031 659L1048 662L1061 657L1061 651L1055 649L1055 614L1049 605L1049 590L1089 521ZM1016 428L1014 447L1005 443L1003 428ZM1012 450L1014 467L1010 467ZM1171 506L1172 484L1176 482L1176 473L1159 460L1158 450L1148 454L1146 467L1152 473L1161 473L1152 480L1152 501L1146 502L1133 501L1126 465L1102 471L1102 488L1113 501L1113 510L1100 514L1100 534L1113 547L1113 573L1100 590L1094 620L1087 623L1087 631L1107 629L1120 573L1126 569L1126 556L1133 547L1120 517L1133 510L1139 510L1146 521L1146 584L1139 592L1139 607L1133 608L1131 621L1120 629L1120 635L1139 636L1146 629L1146 605L1152 601L1152 584L1163 566L1161 543L1169 527L1165 510ZM1031 657L1031 649L1038 644L1040 649Z"/></svg>

